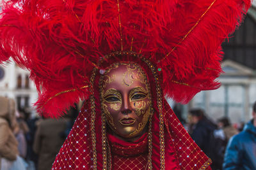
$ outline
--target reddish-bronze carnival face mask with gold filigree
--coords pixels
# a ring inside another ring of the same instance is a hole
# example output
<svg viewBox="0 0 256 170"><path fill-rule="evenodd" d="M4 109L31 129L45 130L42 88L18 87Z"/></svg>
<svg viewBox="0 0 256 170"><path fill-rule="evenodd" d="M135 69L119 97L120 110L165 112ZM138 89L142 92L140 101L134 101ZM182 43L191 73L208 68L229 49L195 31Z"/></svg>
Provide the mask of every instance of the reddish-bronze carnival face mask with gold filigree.
<svg viewBox="0 0 256 170"><path fill-rule="evenodd" d="M101 80L102 109L109 127L122 138L141 136L150 117L147 76L135 64L116 63Z"/></svg>

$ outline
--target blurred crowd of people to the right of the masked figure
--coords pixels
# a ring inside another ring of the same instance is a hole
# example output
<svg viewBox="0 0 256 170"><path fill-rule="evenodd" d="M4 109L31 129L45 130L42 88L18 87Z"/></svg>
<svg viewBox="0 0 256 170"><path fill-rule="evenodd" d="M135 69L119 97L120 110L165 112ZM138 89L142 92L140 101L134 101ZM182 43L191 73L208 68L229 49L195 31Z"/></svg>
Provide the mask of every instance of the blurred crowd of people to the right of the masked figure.
<svg viewBox="0 0 256 170"><path fill-rule="evenodd" d="M212 169L256 169L256 103L253 104L252 120L244 127L235 128L227 117L219 118L215 124L200 108L189 110L188 122L181 122L211 158Z"/></svg>

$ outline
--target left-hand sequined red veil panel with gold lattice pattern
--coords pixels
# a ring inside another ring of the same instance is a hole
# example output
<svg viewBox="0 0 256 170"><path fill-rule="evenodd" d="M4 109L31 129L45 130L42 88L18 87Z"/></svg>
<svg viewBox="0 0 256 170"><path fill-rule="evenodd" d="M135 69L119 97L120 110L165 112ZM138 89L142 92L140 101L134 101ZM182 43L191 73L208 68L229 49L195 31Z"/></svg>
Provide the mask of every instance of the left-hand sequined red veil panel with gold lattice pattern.
<svg viewBox="0 0 256 170"><path fill-rule="evenodd" d="M86 101L70 134L61 146L52 169L90 169L92 167L90 113L90 103Z"/></svg>

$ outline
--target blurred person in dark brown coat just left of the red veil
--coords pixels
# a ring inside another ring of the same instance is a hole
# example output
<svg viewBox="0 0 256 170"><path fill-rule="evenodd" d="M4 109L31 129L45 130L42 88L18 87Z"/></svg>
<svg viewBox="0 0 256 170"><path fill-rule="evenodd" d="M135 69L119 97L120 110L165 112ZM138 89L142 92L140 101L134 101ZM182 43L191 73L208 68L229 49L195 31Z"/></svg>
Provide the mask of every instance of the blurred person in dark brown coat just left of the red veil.
<svg viewBox="0 0 256 170"><path fill-rule="evenodd" d="M67 129L70 118L44 118L38 121L33 150L38 154L38 170L50 170L56 155L65 138L63 132Z"/></svg>

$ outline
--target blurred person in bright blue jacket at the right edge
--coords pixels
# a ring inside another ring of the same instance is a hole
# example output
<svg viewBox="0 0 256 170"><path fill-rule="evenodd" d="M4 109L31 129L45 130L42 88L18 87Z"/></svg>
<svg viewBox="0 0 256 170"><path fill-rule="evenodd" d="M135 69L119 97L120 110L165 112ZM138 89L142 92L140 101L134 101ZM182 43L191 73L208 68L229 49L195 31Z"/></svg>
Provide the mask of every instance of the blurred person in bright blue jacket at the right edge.
<svg viewBox="0 0 256 170"><path fill-rule="evenodd" d="M228 141L223 169L256 169L256 102L252 120Z"/></svg>

